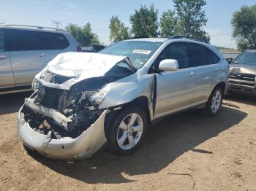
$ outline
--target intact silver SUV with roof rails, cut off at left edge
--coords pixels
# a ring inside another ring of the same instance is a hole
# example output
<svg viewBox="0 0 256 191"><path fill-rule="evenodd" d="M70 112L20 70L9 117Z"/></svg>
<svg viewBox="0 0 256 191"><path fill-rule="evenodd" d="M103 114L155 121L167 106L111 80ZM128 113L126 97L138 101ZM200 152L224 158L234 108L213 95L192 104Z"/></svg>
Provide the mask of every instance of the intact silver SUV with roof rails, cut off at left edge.
<svg viewBox="0 0 256 191"><path fill-rule="evenodd" d="M34 76L61 52L80 50L60 29L0 26L0 94L31 89Z"/></svg>

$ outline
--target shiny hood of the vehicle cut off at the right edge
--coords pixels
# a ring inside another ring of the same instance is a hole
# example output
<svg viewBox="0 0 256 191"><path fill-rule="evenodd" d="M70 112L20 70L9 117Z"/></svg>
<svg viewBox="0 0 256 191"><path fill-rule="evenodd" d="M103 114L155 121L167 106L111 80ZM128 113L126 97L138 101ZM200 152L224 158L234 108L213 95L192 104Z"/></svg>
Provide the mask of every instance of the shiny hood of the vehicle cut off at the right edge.
<svg viewBox="0 0 256 191"><path fill-rule="evenodd" d="M230 73L253 74L256 76L256 64L230 64Z"/></svg>

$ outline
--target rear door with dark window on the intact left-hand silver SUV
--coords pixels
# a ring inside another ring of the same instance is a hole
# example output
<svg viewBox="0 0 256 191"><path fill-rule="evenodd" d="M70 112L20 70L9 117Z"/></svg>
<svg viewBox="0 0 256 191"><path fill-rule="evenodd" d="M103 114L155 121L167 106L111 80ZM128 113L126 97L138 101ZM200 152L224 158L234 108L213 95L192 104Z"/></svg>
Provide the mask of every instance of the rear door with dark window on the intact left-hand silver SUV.
<svg viewBox="0 0 256 191"><path fill-rule="evenodd" d="M50 50L44 32L7 29L7 50L10 52L15 85L31 85L34 76L47 65Z"/></svg>

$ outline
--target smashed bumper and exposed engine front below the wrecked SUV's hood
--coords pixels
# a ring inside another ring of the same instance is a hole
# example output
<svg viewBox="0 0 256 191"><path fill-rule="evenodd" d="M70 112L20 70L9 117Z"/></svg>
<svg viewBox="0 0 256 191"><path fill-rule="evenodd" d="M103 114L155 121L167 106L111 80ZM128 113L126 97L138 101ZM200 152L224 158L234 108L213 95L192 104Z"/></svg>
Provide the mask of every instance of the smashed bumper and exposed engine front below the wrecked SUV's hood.
<svg viewBox="0 0 256 191"><path fill-rule="evenodd" d="M67 160L97 152L106 141L104 121L108 109L91 104L91 93L39 87L25 99L18 115L24 144L42 155Z"/></svg>

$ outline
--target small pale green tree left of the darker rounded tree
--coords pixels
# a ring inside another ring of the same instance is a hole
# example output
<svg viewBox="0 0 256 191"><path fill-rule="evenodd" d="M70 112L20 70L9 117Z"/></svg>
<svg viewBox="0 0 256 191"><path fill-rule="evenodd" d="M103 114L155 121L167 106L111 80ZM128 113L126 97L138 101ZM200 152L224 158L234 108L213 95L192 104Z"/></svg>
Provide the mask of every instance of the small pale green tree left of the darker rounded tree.
<svg viewBox="0 0 256 191"><path fill-rule="evenodd" d="M125 39L129 39L129 28L124 26L124 23L118 19L117 16L111 17L110 25L110 42L117 42Z"/></svg>

